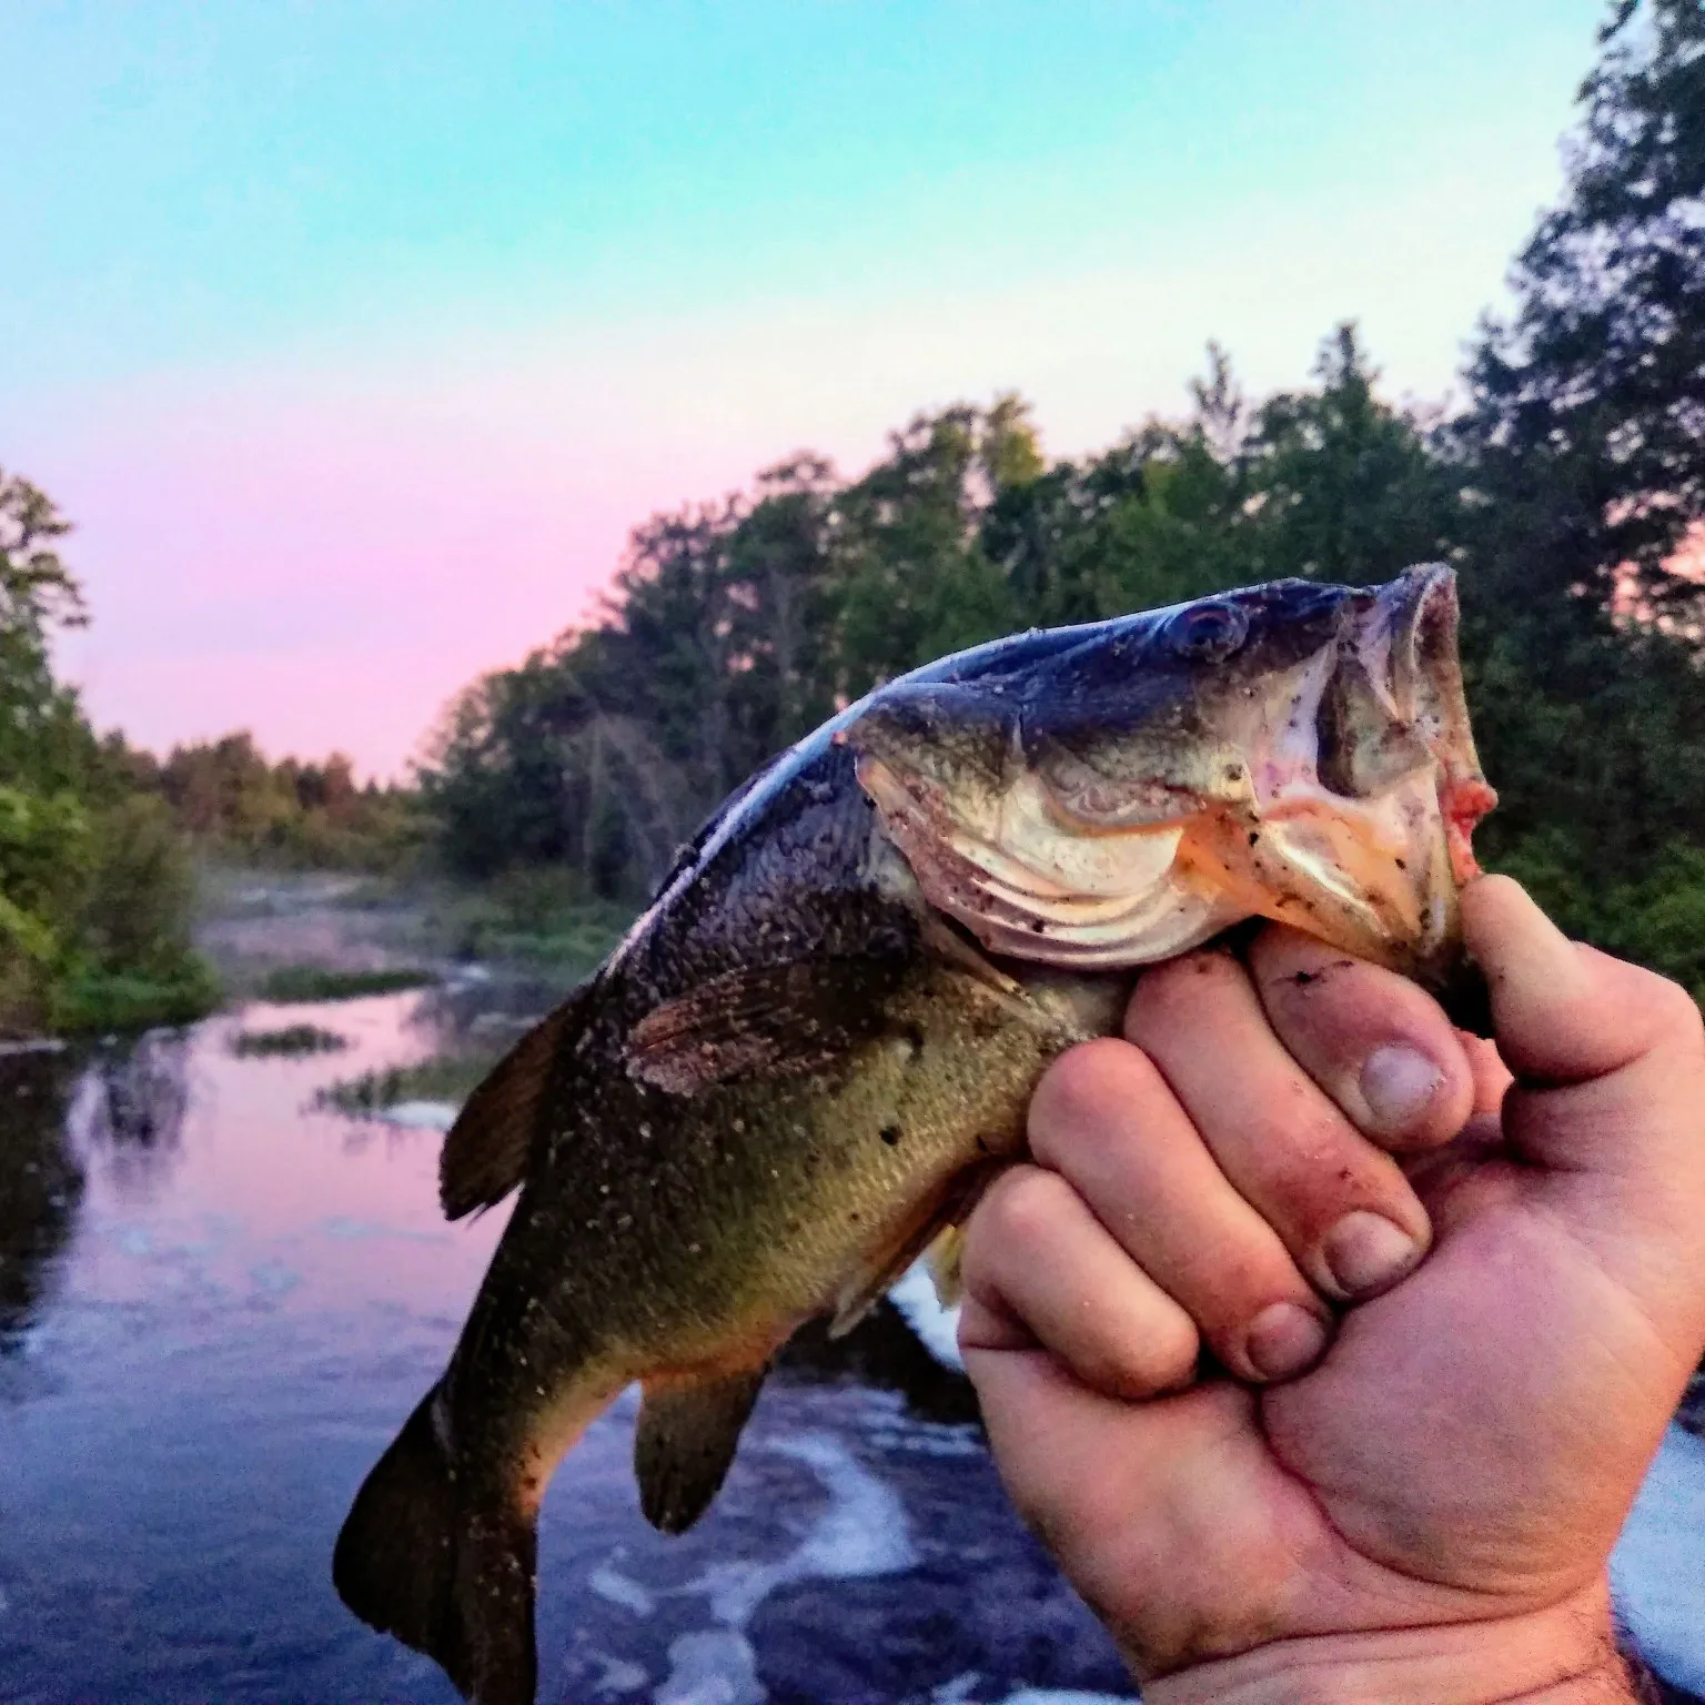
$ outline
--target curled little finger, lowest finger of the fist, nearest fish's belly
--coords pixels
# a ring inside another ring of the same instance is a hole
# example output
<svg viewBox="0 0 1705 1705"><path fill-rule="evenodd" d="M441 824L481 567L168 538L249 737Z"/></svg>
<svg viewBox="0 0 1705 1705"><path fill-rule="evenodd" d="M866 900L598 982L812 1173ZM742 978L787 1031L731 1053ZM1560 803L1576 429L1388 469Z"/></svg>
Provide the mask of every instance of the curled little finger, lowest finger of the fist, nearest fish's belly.
<svg viewBox="0 0 1705 1705"><path fill-rule="evenodd" d="M1016 1166L965 1238L965 1350L1045 1349L1083 1384L1139 1400L1195 1378L1195 1321L1059 1173Z"/></svg>

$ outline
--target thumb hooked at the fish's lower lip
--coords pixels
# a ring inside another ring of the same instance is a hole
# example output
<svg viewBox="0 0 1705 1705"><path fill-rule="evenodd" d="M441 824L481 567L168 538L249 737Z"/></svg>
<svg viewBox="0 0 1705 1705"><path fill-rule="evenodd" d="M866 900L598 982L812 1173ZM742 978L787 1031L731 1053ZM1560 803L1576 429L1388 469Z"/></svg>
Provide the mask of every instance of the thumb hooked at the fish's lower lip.
<svg viewBox="0 0 1705 1705"><path fill-rule="evenodd" d="M1688 1159L1705 1137L1705 1026L1676 984L1570 941L1507 876L1463 890L1463 934L1516 1074L1506 1129L1541 1165Z"/></svg>

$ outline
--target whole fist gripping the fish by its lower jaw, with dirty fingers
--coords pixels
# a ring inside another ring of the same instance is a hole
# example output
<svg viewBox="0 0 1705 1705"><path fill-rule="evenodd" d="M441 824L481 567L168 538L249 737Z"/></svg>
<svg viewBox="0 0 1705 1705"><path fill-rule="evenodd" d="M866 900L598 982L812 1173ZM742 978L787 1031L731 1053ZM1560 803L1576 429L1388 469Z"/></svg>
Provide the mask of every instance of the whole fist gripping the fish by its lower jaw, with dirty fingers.
<svg viewBox="0 0 1705 1705"><path fill-rule="evenodd" d="M1144 975L970 1221L996 1459L1149 1705L1632 1696L1606 1558L1705 1347L1705 1033L1506 878L1463 919L1495 1050L1270 929Z"/></svg>

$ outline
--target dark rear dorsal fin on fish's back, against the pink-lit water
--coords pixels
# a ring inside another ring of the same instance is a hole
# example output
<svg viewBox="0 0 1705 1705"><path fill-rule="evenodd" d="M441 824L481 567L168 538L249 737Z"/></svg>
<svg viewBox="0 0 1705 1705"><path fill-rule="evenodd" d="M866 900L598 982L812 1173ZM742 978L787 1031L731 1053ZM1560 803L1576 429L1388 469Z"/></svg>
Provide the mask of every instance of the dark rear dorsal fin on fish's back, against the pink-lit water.
<svg viewBox="0 0 1705 1705"><path fill-rule="evenodd" d="M534 1025L467 1098L438 1153L445 1219L496 1207L527 1176L556 1062L580 1030L585 994L587 987L576 989Z"/></svg>

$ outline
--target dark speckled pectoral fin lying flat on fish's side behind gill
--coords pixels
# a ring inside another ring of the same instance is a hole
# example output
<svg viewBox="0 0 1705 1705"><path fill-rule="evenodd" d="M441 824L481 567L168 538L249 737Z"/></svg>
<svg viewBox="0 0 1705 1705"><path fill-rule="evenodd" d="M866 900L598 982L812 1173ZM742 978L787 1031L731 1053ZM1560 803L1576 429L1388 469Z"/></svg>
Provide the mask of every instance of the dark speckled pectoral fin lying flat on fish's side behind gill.
<svg viewBox="0 0 1705 1705"><path fill-rule="evenodd" d="M670 1095L827 1066L881 1020L899 965L822 958L752 965L655 1006L627 1037L627 1072Z"/></svg>

